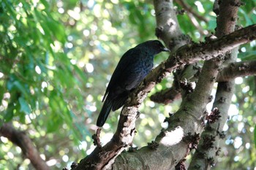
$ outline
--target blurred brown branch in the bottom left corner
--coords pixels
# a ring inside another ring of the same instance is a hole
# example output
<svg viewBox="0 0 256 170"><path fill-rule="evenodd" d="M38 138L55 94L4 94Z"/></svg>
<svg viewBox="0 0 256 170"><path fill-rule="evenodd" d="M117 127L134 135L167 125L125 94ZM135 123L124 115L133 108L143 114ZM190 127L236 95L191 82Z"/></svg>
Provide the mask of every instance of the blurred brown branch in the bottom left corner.
<svg viewBox="0 0 256 170"><path fill-rule="evenodd" d="M23 154L26 158L29 158L35 169L50 170L49 166L47 166L45 161L40 157L37 148L34 147L29 136L27 136L23 131L18 131L10 123L5 123L0 128L0 135L6 137L12 143L20 147Z"/></svg>

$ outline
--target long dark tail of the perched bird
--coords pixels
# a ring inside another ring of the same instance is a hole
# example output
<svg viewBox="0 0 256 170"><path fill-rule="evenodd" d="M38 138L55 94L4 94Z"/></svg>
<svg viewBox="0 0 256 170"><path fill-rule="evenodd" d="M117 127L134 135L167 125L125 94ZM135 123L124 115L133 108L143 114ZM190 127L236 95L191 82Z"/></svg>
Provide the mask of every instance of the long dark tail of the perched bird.
<svg viewBox="0 0 256 170"><path fill-rule="evenodd" d="M101 111L99 112L99 117L97 119L97 126L102 127L102 125L104 125L112 107L113 107L113 100L107 97L106 100L104 101Z"/></svg>

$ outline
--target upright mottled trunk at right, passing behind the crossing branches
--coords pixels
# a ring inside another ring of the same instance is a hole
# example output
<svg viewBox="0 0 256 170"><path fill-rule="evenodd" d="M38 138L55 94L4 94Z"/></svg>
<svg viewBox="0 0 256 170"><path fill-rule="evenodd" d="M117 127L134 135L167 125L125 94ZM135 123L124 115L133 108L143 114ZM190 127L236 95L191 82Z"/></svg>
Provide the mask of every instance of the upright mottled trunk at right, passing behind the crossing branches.
<svg viewBox="0 0 256 170"><path fill-rule="evenodd" d="M236 18L240 0L220 1L219 16L217 17L217 37L230 34L235 30ZM225 64L236 61L238 48L236 47L225 55ZM206 130L201 135L200 144L192 157L189 169L211 169L215 164L215 158L219 154L219 142L223 139L222 128L227 120L227 111L230 107L234 92L234 80L219 82L214 100L212 115L214 121L206 124ZM217 108L217 109L214 109ZM211 118L213 120L213 118Z"/></svg>

